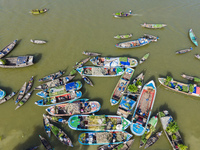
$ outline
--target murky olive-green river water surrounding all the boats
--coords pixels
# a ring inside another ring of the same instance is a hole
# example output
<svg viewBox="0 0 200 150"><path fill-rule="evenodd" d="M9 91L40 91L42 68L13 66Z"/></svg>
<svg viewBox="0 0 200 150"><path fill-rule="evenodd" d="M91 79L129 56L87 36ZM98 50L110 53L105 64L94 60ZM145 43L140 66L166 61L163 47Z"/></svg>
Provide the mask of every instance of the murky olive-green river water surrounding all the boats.
<svg viewBox="0 0 200 150"><path fill-rule="evenodd" d="M65 70L66 74L83 56L82 51L102 53L102 56L128 56L140 59L147 52L149 59L136 67L137 76L145 71L145 83L154 80L157 86L157 96L153 114L158 110L168 109L177 121L185 145L190 150L200 147L200 117L199 98L186 96L165 89L158 82L158 77L171 75L174 80L189 83L180 75L186 73L200 77L200 61L194 54L200 53L199 47L194 47L188 37L188 30L193 29L197 38L200 37L200 1L198 0L1 0L0 1L0 45L1 48L18 39L18 45L8 55L34 55L35 65L20 69L0 68L0 88L8 94L17 91L23 83L35 76L34 87L39 85L38 79ZM48 8L42 15L32 15L31 9ZM135 14L128 18L114 18L113 12L129 10ZM146 29L141 23L165 23L163 29ZM158 42L135 49L118 49L119 42L113 38L116 34L132 33L132 40L144 33L159 36ZM30 39L44 39L45 45L34 45ZM176 55L180 49L193 47L193 51ZM90 62L87 65L91 65ZM90 79L94 87L84 84L83 97L98 100L102 108L97 114L116 114L117 106L110 105L110 96L120 77ZM75 80L81 80L79 75ZM20 109L14 110L14 101L10 100L0 107L0 149L25 150L40 145L38 135L44 136L58 150L72 149L60 143L54 136L48 138L44 132L42 114L44 107L34 104L40 98L33 93L31 99ZM16 99L16 96L14 97ZM94 150L97 146L83 146L77 141L79 131L72 131L67 126L61 126L70 136L74 148L79 150ZM157 130L161 130L159 122ZM130 132L128 129L127 131ZM140 137L134 137L135 143L131 149L139 149ZM150 147L152 150L172 149L163 135L159 141Z"/></svg>

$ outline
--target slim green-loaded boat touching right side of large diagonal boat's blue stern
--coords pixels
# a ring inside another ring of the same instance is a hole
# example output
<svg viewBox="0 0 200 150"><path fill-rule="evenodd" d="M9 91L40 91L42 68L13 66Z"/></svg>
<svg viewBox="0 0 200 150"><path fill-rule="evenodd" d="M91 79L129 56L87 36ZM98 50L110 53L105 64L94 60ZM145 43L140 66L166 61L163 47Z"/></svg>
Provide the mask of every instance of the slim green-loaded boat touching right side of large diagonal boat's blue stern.
<svg viewBox="0 0 200 150"><path fill-rule="evenodd" d="M158 123L158 117L157 116L151 117L151 119L149 120L149 123L147 125L147 129L141 137L139 148L143 147L147 143L147 141L149 140L149 138L153 134L157 123Z"/></svg>

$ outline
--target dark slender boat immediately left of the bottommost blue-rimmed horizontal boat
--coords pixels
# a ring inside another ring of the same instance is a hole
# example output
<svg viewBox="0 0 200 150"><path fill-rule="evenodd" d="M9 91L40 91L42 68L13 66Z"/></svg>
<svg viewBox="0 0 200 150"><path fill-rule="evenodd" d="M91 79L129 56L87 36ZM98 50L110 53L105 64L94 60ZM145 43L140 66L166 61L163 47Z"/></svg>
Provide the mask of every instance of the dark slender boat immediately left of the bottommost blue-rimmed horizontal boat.
<svg viewBox="0 0 200 150"><path fill-rule="evenodd" d="M55 135L55 137L60 142L62 142L63 144L67 146L73 147L71 139L68 137L68 135L64 131L62 131L60 128L56 127L53 124L49 124L49 126L51 128L51 132Z"/></svg>

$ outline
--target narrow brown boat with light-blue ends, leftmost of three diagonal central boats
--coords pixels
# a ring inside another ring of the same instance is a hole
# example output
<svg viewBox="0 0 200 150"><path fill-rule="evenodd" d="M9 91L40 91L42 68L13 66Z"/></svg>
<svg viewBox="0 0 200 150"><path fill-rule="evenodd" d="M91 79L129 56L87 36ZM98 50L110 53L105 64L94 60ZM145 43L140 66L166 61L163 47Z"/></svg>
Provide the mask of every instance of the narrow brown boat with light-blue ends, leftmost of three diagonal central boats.
<svg viewBox="0 0 200 150"><path fill-rule="evenodd" d="M111 105L116 105L120 102L123 93L126 91L126 88L128 87L128 84L130 83L134 72L134 69L126 68L110 97Z"/></svg>

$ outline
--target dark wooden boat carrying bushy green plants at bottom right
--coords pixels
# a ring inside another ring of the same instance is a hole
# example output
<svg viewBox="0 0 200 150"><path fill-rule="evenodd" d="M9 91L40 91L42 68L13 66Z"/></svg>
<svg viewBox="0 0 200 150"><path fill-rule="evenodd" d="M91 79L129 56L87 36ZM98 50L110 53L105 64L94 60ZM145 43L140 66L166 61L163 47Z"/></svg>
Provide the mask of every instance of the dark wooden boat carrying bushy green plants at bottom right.
<svg viewBox="0 0 200 150"><path fill-rule="evenodd" d="M179 146L179 144L183 144L183 141L182 141L181 135L178 131L178 127L177 127L177 130L175 130L175 133L171 133L171 132L169 132L170 130L168 130L170 128L170 124L171 123L176 124L176 122L173 120L172 116L169 114L169 112L167 110L161 111L158 114L159 114L159 119L161 121L164 133L165 133L169 143L171 144L173 150L180 150L178 146ZM176 126L177 126L177 124L176 124Z"/></svg>

